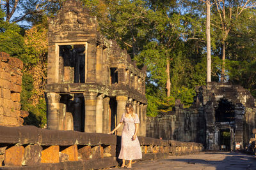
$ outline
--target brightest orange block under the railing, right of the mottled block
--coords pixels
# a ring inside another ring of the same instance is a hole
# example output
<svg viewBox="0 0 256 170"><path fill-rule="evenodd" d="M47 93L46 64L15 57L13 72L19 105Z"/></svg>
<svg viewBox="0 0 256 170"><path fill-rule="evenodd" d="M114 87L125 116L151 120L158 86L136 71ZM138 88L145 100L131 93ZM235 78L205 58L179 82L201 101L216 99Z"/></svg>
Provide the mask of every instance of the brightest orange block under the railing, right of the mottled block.
<svg viewBox="0 0 256 170"><path fill-rule="evenodd" d="M41 156L41 163L58 163L60 146L48 146L44 148Z"/></svg>

